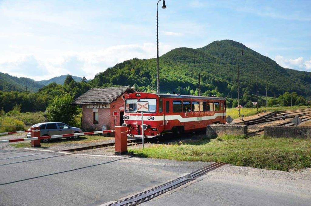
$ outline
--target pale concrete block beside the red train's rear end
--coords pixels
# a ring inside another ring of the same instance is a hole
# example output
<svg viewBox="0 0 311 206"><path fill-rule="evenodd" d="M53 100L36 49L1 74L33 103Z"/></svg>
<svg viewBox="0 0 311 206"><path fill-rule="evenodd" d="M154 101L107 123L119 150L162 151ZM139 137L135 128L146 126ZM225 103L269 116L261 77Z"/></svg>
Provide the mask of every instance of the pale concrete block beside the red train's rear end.
<svg viewBox="0 0 311 206"><path fill-rule="evenodd" d="M216 138L221 135L247 135L247 125L210 124L206 127L206 137Z"/></svg>

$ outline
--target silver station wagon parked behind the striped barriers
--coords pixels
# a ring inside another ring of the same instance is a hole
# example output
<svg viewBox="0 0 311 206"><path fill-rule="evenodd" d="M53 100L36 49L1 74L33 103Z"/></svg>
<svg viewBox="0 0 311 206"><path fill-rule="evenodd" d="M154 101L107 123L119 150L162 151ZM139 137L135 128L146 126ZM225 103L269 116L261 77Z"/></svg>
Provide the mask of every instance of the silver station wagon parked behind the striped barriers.
<svg viewBox="0 0 311 206"><path fill-rule="evenodd" d="M45 122L35 124L32 127L40 127L40 136L52 136L58 134L72 134L72 133L82 133L82 130L77 127L71 127L62 122ZM27 138L31 137L31 133L27 133ZM72 138L77 139L79 136L72 136ZM48 142L49 139L41 139L42 142Z"/></svg>

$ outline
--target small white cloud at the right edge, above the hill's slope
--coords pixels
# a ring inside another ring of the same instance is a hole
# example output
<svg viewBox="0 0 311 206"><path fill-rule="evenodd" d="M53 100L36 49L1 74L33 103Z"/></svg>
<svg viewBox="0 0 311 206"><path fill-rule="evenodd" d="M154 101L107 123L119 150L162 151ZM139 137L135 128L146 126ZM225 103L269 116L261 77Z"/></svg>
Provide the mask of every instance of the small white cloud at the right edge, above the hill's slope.
<svg viewBox="0 0 311 206"><path fill-rule="evenodd" d="M303 57L298 57L297 59L285 59L283 56L277 55L275 61L284 68L311 70L311 58L310 60L304 61Z"/></svg>

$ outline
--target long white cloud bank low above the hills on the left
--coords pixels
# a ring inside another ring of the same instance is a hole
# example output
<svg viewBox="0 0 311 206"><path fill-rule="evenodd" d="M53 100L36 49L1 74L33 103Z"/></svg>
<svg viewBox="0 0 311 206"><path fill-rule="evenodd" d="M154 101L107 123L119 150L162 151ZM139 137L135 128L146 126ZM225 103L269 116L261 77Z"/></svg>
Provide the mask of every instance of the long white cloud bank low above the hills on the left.
<svg viewBox="0 0 311 206"><path fill-rule="evenodd" d="M173 49L167 44L159 44L160 55ZM156 57L156 44L124 44L107 47L95 52L63 52L53 58L26 55L10 62L2 59L0 71L17 77L29 77L35 80L49 79L59 75L72 74L94 78L96 73L122 61Z"/></svg>

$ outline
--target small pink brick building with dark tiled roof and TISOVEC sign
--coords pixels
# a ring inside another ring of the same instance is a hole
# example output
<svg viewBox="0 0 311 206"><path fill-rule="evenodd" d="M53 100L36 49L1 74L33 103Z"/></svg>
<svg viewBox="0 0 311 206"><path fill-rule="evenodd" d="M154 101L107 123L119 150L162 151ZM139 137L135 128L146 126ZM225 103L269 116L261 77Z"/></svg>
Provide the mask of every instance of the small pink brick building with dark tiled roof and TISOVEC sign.
<svg viewBox="0 0 311 206"><path fill-rule="evenodd" d="M93 88L79 96L73 104L82 106L82 129L113 129L124 123L124 95L131 87Z"/></svg>

